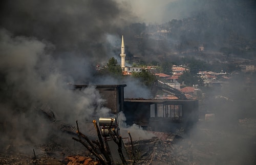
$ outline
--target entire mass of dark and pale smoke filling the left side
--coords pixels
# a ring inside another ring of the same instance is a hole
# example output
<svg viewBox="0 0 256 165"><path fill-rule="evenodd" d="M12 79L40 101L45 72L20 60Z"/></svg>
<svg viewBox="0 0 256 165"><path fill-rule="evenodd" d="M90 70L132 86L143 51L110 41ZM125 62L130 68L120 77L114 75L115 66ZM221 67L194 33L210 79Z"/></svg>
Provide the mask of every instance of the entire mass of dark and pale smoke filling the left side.
<svg viewBox="0 0 256 165"><path fill-rule="evenodd" d="M53 133L41 113L54 112L54 120L71 125L81 121L81 127L92 116L108 116L94 87L78 92L68 82L93 80L92 68L113 56L109 36L117 38L132 18L121 4L2 1L0 17L3 150L17 142L40 143Z"/></svg>

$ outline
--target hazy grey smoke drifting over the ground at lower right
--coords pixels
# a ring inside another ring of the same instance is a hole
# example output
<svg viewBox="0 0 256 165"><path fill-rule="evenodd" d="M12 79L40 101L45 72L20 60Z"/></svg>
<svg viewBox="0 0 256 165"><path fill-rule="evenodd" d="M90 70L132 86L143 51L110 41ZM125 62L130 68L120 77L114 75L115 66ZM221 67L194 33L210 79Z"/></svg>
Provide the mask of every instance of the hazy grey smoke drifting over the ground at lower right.
<svg viewBox="0 0 256 165"><path fill-rule="evenodd" d="M194 153L214 153L203 161L206 164L255 163L255 86L247 89L248 75L232 75L229 83L212 88L200 104L202 112L215 114L211 119L200 117L197 128L191 130Z"/></svg>

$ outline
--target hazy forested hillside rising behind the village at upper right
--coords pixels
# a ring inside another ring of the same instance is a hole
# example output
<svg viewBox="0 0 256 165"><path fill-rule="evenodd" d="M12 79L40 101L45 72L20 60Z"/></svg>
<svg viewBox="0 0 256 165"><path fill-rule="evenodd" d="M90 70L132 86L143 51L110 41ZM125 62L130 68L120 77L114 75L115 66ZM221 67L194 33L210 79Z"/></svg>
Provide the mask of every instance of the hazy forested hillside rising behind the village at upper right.
<svg viewBox="0 0 256 165"><path fill-rule="evenodd" d="M163 24L133 23L126 27L126 43L133 54L174 56L184 52L215 51L253 58L256 43L256 1L181 0L169 3ZM128 41L127 41L128 40Z"/></svg>

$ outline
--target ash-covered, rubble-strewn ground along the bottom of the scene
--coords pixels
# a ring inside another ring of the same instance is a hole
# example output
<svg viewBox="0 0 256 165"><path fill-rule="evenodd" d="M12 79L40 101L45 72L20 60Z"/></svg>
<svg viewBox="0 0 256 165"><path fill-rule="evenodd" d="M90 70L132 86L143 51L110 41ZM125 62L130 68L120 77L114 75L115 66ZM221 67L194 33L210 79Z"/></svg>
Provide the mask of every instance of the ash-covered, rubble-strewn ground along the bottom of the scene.
<svg viewBox="0 0 256 165"><path fill-rule="evenodd" d="M83 133L92 140L97 138L93 124L87 124L92 126L91 132ZM183 137L174 138L172 133L163 133L165 138L135 140L136 164L255 164L256 119L238 120L237 124L234 129L227 130L225 126L216 127L214 121L201 119L189 136L176 132ZM76 135L56 131L44 144L31 145L22 141L13 143L15 136L10 136L9 143L1 145L0 164L68 164L67 157L72 155L95 160L72 137ZM129 154L131 144L126 142L124 139Z"/></svg>

